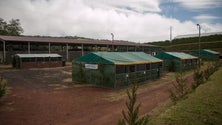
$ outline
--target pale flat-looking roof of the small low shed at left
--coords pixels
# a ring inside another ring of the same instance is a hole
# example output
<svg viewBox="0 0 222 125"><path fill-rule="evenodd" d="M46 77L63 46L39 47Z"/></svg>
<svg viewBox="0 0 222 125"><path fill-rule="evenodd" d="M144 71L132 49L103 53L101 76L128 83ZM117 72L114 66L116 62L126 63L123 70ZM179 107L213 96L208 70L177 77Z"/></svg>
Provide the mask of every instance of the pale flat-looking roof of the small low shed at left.
<svg viewBox="0 0 222 125"><path fill-rule="evenodd" d="M20 58L35 58L35 57L62 57L59 54L16 54Z"/></svg>

